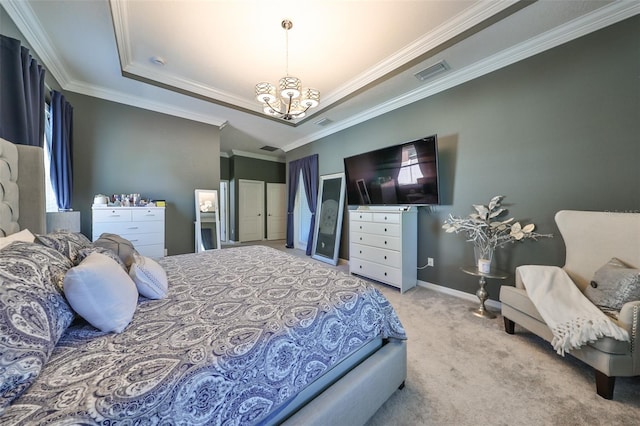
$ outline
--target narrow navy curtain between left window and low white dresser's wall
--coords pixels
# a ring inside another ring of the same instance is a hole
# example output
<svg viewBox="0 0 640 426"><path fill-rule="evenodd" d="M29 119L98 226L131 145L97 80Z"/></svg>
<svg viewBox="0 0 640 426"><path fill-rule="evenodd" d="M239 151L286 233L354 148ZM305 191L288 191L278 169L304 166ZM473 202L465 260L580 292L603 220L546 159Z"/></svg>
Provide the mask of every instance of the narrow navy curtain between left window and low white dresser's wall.
<svg viewBox="0 0 640 426"><path fill-rule="evenodd" d="M73 191L73 107L62 93L51 91L51 168L50 177L56 193L58 210L71 210Z"/></svg>

